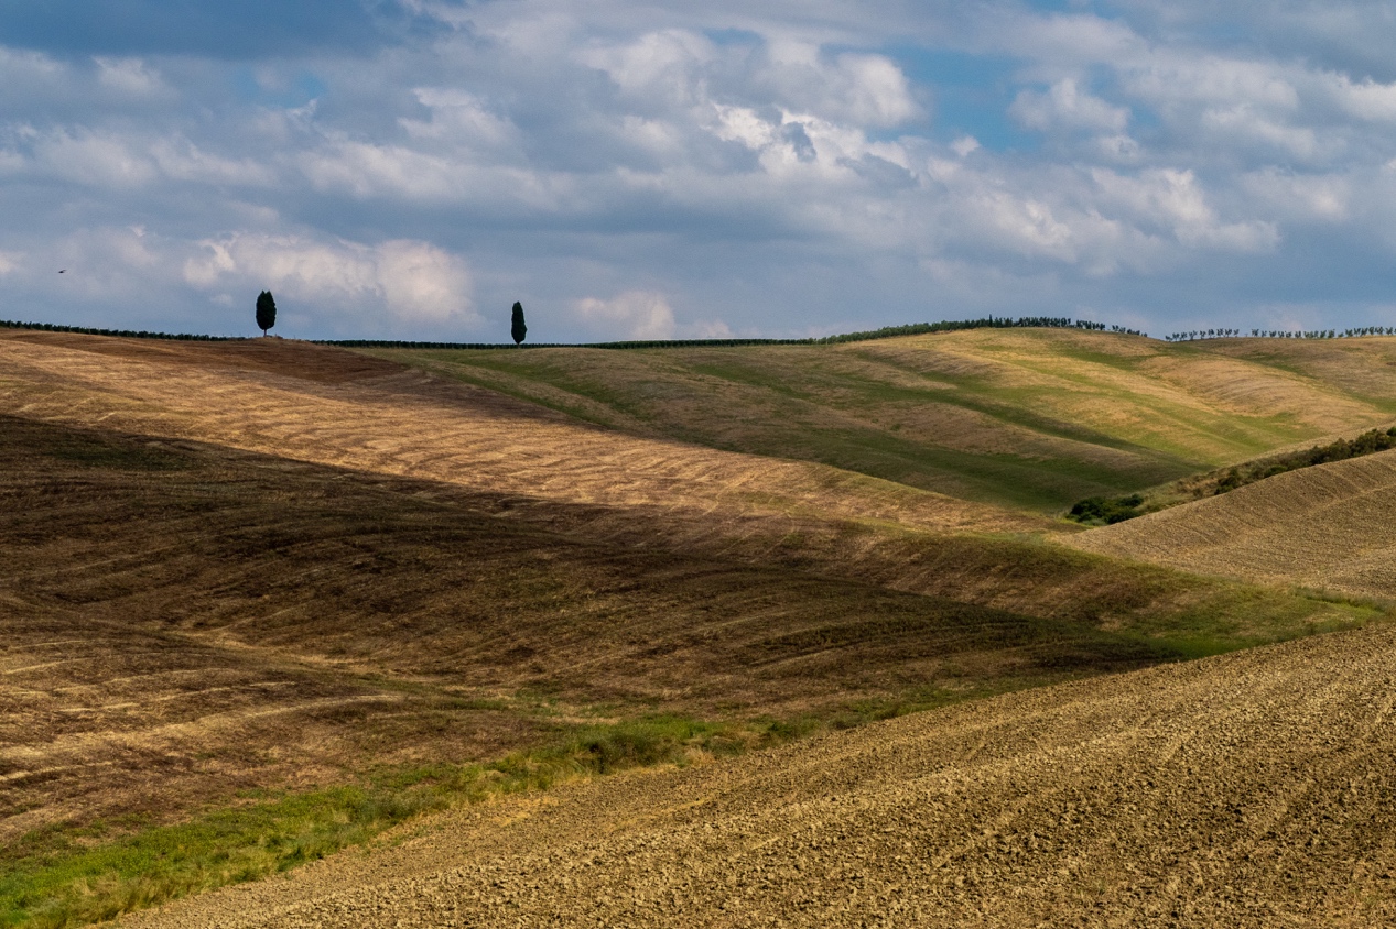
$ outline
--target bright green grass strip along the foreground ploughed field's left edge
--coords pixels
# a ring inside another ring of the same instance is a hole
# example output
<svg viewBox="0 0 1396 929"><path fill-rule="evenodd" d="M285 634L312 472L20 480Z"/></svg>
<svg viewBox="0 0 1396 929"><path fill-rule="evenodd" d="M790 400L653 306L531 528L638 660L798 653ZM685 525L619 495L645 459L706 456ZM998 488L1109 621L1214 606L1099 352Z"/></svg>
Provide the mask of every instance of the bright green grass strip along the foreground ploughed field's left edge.
<svg viewBox="0 0 1396 929"><path fill-rule="evenodd" d="M0 926L61 929L257 880L371 840L420 813L630 767L687 764L811 731L814 723L655 717L572 731L487 764L377 771L357 785L244 796L191 822L92 844L99 829L46 829L0 852Z"/></svg>

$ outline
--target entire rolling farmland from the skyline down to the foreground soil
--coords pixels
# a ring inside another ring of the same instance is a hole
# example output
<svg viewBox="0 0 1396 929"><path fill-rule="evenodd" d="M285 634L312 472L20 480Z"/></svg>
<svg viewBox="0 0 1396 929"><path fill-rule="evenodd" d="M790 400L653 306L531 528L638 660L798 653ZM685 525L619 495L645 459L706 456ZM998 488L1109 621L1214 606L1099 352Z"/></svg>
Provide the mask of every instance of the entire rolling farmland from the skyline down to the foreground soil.
<svg viewBox="0 0 1396 929"><path fill-rule="evenodd" d="M1385 925L1393 368L0 332L0 926Z"/></svg>

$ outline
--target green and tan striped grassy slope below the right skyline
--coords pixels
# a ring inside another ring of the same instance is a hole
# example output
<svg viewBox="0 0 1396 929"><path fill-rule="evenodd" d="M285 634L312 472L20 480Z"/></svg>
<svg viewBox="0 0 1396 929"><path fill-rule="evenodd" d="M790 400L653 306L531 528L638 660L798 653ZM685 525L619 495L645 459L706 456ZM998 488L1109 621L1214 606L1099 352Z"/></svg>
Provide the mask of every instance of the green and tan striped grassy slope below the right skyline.
<svg viewBox="0 0 1396 929"><path fill-rule="evenodd" d="M376 354L593 423L1053 512L1389 421L1389 342L977 329L758 350Z"/></svg>

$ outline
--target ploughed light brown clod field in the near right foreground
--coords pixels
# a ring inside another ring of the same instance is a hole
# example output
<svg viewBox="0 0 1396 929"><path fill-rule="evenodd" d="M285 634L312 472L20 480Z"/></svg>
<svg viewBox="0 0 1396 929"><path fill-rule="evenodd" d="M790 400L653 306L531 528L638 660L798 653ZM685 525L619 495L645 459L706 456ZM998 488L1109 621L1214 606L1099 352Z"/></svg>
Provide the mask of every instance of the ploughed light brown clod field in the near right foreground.
<svg viewBox="0 0 1396 929"><path fill-rule="evenodd" d="M1389 926L1396 632L921 713L450 813L120 921Z"/></svg>

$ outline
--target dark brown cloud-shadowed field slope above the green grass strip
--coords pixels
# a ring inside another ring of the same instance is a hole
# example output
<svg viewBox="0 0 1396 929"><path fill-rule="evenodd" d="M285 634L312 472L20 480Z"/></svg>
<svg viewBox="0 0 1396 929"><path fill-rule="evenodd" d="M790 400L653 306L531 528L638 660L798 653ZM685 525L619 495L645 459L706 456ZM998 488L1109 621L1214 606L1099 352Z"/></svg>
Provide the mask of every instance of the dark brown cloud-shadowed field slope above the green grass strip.
<svg viewBox="0 0 1396 929"><path fill-rule="evenodd" d="M452 484L4 416L0 435L0 844L494 759L588 718L829 716L1168 657L571 538Z"/></svg>

